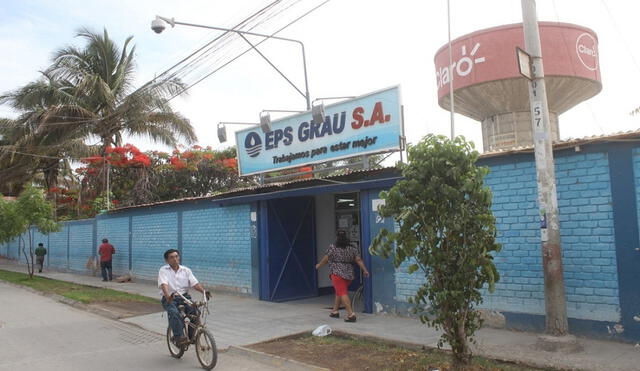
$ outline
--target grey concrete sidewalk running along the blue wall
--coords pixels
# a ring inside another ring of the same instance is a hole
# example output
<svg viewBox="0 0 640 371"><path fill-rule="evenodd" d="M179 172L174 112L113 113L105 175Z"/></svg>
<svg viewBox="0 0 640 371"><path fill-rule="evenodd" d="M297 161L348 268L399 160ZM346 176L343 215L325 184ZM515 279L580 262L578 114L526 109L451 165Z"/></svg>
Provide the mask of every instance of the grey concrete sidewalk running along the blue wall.
<svg viewBox="0 0 640 371"><path fill-rule="evenodd" d="M23 265L0 259L0 269L25 272ZM85 285L113 288L150 297L159 297L154 283L102 282L98 277L63 272L45 272L43 277ZM418 320L389 315L359 314L358 322L345 323L328 317L331 296L287 303L271 303L253 298L214 294L208 326L221 349L230 345L247 345L292 333L311 331L321 324L356 335L375 336L391 341L435 347L439 332ZM124 320L163 334L167 319L163 313ZM537 334L485 328L477 334L476 354L492 358L525 362L538 366L584 370L638 370L640 348L613 341L581 338L584 351L574 354L551 353L534 348Z"/></svg>

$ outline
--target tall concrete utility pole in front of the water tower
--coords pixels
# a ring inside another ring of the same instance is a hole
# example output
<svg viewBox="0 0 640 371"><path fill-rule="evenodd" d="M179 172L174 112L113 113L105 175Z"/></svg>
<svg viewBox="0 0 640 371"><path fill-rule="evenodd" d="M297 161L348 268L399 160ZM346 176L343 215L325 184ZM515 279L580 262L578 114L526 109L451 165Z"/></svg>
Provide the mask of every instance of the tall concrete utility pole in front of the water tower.
<svg viewBox="0 0 640 371"><path fill-rule="evenodd" d="M556 192L553 147L549 123L549 107L544 82L540 33L535 0L521 0L525 49L532 57L529 81L531 124L535 146L538 204L540 207L540 237L544 267L544 298L548 334L563 336L568 333L567 306L564 292L558 196Z"/></svg>

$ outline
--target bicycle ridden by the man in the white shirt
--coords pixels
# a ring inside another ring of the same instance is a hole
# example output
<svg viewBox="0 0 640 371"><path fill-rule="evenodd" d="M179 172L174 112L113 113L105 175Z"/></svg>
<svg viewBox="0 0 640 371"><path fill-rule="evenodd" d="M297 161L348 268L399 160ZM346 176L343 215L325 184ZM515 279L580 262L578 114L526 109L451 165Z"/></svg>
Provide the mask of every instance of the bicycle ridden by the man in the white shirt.
<svg viewBox="0 0 640 371"><path fill-rule="evenodd" d="M216 367L218 362L218 348L216 347L216 341L213 338L213 334L207 329L207 315L209 314L209 300L207 295L203 295L202 301L191 301L184 297L180 293L179 295L184 302L194 309L194 314L187 314L185 312L185 306L179 305L178 310L184 323L184 333L187 336L188 342L184 345L176 344L171 331L171 326L167 328L167 346L169 347L169 353L173 358L181 358L184 352L189 349L189 345L195 345L196 356L198 362L205 370L211 370ZM208 354L210 353L210 355Z"/></svg>

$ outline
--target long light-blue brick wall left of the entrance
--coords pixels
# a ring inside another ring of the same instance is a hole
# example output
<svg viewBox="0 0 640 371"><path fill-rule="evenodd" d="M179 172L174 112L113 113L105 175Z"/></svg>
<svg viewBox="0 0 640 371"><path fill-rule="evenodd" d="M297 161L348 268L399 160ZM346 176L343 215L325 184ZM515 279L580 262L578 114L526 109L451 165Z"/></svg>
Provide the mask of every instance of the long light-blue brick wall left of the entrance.
<svg viewBox="0 0 640 371"><path fill-rule="evenodd" d="M87 261L107 238L116 249L115 275L131 271L152 281L166 264L163 253L179 249L183 264L207 286L257 295L252 264L257 266L258 251L252 249L250 215L250 204L223 207L211 202L132 209L61 223L60 231L48 236L36 232L34 243L47 247L45 265L91 273ZM17 253L17 241L0 244L0 255L17 259ZM18 261L24 263L24 258Z"/></svg>

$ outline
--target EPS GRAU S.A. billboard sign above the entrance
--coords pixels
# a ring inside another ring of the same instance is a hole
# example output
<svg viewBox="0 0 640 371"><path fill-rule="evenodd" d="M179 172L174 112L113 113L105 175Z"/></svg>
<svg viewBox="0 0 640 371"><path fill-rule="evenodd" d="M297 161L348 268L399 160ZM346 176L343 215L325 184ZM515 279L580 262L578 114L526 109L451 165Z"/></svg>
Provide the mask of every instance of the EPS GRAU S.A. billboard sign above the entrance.
<svg viewBox="0 0 640 371"><path fill-rule="evenodd" d="M264 133L236 132L240 175L302 167L400 148L400 88L395 86L329 105L324 122L310 112L272 122Z"/></svg>

